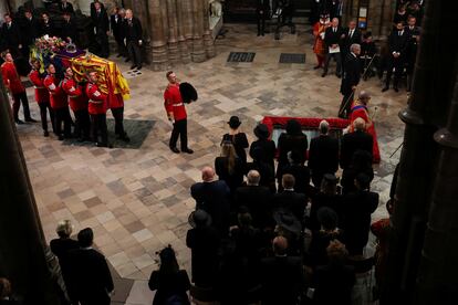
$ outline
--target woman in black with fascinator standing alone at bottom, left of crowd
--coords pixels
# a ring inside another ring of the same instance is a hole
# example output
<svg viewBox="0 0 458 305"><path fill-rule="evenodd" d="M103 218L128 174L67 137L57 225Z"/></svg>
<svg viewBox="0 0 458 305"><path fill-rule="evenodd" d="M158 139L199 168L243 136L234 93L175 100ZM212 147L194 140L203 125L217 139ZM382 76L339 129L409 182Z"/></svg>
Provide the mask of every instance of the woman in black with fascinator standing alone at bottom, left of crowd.
<svg viewBox="0 0 458 305"><path fill-rule="evenodd" d="M170 245L159 252L160 267L153 271L148 286L157 291L153 305L190 304L187 291L190 282L186 270L180 270L174 249Z"/></svg>

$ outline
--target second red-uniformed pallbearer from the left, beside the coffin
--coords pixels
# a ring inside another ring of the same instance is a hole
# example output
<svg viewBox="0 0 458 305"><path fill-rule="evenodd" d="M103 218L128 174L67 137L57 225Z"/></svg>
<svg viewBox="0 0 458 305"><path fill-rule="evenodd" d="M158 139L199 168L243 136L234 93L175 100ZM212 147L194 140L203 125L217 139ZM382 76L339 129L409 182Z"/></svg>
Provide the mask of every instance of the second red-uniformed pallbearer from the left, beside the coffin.
<svg viewBox="0 0 458 305"><path fill-rule="evenodd" d="M51 108L50 104L50 93L48 92L46 87L44 86L44 76L40 74L41 63L39 60L33 59L31 60L32 71L29 74L29 78L32 82L35 88L35 102L40 107L40 116L41 116L41 126L43 127L43 136L48 137L50 134L48 132L48 112L50 113L51 118L51 126L52 130L55 134L54 129L54 112Z"/></svg>

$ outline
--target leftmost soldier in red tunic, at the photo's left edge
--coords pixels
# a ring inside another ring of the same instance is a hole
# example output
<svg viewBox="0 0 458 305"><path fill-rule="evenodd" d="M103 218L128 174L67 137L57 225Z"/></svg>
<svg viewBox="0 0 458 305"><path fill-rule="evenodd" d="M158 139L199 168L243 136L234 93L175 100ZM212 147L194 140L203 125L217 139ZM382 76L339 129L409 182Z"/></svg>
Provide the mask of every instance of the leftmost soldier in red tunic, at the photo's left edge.
<svg viewBox="0 0 458 305"><path fill-rule="evenodd" d="M29 99L27 98L25 88L21 83L21 77L19 77L18 71L15 70L11 53L6 52L2 54L2 57L4 63L1 65L1 74L3 76L4 86L8 88L13 99L13 116L15 124L23 124L23 122L19 119L21 102L24 107L25 122L35 123L37 120L30 116Z"/></svg>

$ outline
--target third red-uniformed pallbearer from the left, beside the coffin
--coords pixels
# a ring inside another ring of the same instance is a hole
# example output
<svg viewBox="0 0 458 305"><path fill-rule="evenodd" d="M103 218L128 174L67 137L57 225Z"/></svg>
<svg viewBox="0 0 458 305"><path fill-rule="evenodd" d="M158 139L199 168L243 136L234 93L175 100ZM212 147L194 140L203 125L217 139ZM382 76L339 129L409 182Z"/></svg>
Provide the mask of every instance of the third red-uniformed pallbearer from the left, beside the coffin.
<svg viewBox="0 0 458 305"><path fill-rule="evenodd" d="M60 86L59 80L55 77L55 67L53 64L48 66L48 75L44 77L44 86L50 93L51 108L55 114L55 134L59 140L72 137L72 117L70 116L69 103L66 94ZM64 125L62 134L62 123Z"/></svg>

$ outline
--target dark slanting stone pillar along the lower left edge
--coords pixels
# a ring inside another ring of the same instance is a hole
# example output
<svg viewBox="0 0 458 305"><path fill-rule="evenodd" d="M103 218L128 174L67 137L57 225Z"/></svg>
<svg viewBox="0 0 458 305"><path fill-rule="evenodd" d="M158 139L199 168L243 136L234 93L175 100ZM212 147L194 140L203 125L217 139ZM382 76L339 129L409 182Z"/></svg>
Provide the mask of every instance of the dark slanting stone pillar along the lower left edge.
<svg viewBox="0 0 458 305"><path fill-rule="evenodd" d="M10 103L0 75L0 275L24 304L60 305ZM52 257L52 255L50 256Z"/></svg>

